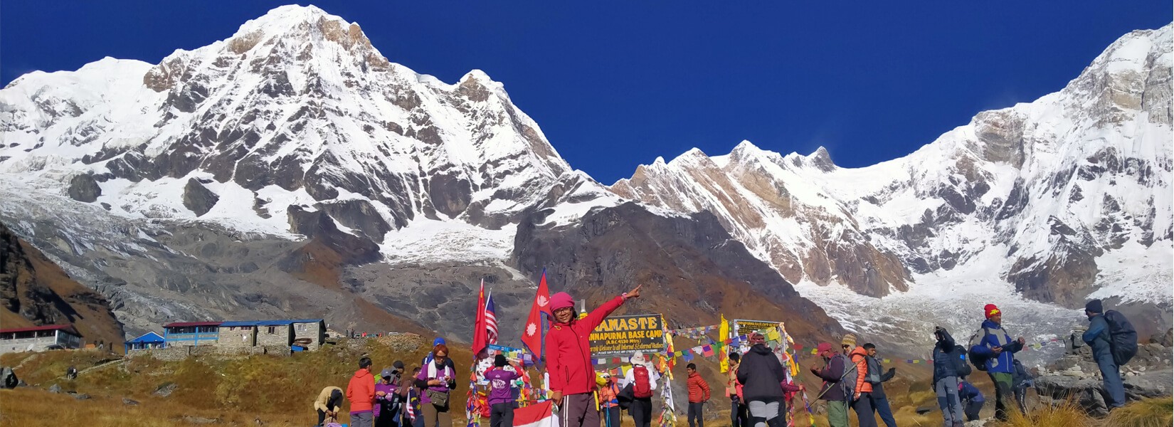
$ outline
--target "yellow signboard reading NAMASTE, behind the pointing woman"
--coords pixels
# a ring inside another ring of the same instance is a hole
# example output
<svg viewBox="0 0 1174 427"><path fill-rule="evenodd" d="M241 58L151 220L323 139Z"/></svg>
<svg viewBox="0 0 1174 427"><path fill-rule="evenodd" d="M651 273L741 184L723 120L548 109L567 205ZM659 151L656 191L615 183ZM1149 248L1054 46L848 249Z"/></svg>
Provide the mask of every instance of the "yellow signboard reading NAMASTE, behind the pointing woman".
<svg viewBox="0 0 1174 427"><path fill-rule="evenodd" d="M593 357L632 355L664 351L664 319L660 314L615 316L591 333Z"/></svg>

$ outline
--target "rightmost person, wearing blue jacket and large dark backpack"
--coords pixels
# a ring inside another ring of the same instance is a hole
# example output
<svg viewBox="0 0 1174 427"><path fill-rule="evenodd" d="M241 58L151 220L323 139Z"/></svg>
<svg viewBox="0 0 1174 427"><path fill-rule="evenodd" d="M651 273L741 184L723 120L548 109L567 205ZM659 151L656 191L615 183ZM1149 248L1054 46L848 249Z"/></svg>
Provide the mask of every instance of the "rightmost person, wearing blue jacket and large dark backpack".
<svg viewBox="0 0 1174 427"><path fill-rule="evenodd" d="M1125 382L1121 381L1121 365L1129 361L1138 351L1138 332L1121 313L1101 307L1100 299L1085 304L1088 331L1081 337L1093 351L1093 361L1101 370L1108 409L1125 406ZM1132 347L1132 354L1131 354Z"/></svg>

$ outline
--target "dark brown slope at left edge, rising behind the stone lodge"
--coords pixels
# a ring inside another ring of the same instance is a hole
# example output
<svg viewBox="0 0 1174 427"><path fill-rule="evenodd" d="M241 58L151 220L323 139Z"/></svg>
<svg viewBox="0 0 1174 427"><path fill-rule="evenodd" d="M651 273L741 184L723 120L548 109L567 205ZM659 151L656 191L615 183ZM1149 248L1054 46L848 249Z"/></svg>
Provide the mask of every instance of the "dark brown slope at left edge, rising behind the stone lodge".
<svg viewBox="0 0 1174 427"><path fill-rule="evenodd" d="M97 292L69 278L41 251L0 224L0 327L72 323L83 343L122 351L122 324Z"/></svg>

